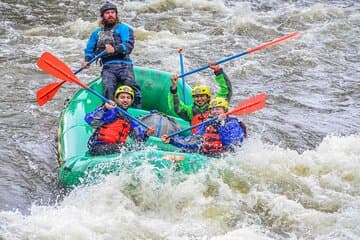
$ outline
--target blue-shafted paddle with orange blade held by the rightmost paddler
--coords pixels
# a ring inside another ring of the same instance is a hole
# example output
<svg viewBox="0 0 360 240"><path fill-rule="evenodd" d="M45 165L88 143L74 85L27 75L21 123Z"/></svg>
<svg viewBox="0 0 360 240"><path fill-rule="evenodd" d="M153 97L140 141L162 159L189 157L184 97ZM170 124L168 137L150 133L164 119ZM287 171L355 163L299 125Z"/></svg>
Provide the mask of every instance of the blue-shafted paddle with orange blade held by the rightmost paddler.
<svg viewBox="0 0 360 240"><path fill-rule="evenodd" d="M266 100L266 94L265 93L260 93L260 94L254 96L254 97L251 97L251 98L241 102L235 108L233 108L232 110L226 112L225 115L226 116L229 116L229 115L245 115L245 114L253 113L253 112L257 111L257 110L262 109L265 106L265 100ZM208 123L213 122L213 121L215 121L217 119L218 119L218 117L210 118L210 119L208 119L208 120L206 120L204 122L195 124L195 125L190 126L188 128L185 128L185 129L182 129L180 131L169 134L168 137L170 138L170 137L176 136L176 135L178 135L180 133L189 131L189 130L191 130L193 128L199 127L199 126L204 125L204 124L208 124Z"/></svg>

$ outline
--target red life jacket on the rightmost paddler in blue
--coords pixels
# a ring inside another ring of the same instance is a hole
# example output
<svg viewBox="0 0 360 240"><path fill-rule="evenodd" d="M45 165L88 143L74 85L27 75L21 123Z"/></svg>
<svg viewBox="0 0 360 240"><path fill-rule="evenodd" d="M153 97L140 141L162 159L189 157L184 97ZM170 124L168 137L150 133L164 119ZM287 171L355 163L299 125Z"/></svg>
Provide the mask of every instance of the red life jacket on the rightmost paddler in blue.
<svg viewBox="0 0 360 240"><path fill-rule="evenodd" d="M221 153L225 151L220 135L213 125L205 129L201 150L204 153Z"/></svg>

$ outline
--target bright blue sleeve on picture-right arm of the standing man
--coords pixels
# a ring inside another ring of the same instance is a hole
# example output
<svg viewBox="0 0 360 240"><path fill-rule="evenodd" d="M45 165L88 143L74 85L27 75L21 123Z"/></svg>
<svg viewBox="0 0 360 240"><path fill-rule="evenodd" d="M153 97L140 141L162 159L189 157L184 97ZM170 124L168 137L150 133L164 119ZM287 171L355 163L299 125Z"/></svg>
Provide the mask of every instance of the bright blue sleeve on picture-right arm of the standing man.
<svg viewBox="0 0 360 240"><path fill-rule="evenodd" d="M121 42L115 46L115 53L130 55L135 45L134 30L125 23L121 23L115 31L120 36Z"/></svg>

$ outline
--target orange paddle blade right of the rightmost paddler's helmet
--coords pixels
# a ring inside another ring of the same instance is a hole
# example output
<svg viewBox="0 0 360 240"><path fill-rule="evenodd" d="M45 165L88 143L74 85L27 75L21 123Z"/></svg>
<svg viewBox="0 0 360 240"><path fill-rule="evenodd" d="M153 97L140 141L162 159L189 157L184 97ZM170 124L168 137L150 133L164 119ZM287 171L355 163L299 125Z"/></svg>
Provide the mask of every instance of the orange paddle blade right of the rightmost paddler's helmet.
<svg viewBox="0 0 360 240"><path fill-rule="evenodd" d="M234 109L226 113L226 115L244 115L253 113L257 110L265 107L266 94L260 93L254 97L251 97L243 102L241 102Z"/></svg>

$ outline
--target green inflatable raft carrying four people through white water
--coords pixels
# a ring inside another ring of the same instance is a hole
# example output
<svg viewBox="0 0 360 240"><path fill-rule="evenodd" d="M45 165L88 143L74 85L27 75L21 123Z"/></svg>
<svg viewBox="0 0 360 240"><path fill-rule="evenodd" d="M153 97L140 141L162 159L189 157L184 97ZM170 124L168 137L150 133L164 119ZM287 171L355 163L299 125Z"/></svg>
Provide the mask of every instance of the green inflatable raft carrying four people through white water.
<svg viewBox="0 0 360 240"><path fill-rule="evenodd" d="M174 109L169 106L168 92L171 74L159 70L135 67L135 77L142 90L142 108L130 108L128 112L134 117L147 119L152 110L157 114L155 128L159 129L162 121L170 116L176 121L177 126L186 128L189 123L178 118ZM101 78L92 81L89 86L95 91L102 93ZM182 89L181 81L178 81L178 89ZM186 85L186 100L192 102L191 88ZM183 98L182 91L179 91ZM144 162L150 163L155 171L172 168L186 174L197 172L204 167L209 158L195 153L180 152L180 149L164 144L159 137L150 137L144 146L135 146L131 138L126 143L129 148L123 153L92 156L87 149L87 141L93 133L93 128L85 121L85 114L93 111L101 104L101 99L85 89L79 90L63 109L58 130L58 160L59 180L65 187L73 187L80 184L92 183L101 175L116 174L121 171L138 167ZM152 124L153 126L154 124ZM163 133L163 132L162 132ZM160 131L157 136L160 136ZM170 132L169 132L170 133ZM190 134L190 132L185 133Z"/></svg>

